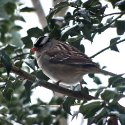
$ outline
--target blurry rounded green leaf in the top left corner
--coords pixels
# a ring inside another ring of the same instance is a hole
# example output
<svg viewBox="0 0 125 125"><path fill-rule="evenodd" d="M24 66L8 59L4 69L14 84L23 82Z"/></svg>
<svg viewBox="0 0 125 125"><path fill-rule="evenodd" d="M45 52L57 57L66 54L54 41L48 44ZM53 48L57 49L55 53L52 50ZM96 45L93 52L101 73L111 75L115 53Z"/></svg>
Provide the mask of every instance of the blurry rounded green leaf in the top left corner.
<svg viewBox="0 0 125 125"><path fill-rule="evenodd" d="M5 4L4 8L5 8L7 14L11 15L11 14L14 14L14 11L16 9L16 4L14 2L8 2Z"/></svg>

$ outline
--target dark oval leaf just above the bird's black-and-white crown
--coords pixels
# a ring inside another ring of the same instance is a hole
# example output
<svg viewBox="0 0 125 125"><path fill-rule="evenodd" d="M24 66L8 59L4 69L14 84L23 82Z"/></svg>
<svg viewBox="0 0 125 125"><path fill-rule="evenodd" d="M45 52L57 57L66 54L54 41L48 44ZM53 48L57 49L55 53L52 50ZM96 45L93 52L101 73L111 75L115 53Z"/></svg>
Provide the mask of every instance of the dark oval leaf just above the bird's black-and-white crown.
<svg viewBox="0 0 125 125"><path fill-rule="evenodd" d="M36 37L36 38L44 35L43 31L39 29L38 27L34 27L34 28L27 30L27 34L29 37Z"/></svg>

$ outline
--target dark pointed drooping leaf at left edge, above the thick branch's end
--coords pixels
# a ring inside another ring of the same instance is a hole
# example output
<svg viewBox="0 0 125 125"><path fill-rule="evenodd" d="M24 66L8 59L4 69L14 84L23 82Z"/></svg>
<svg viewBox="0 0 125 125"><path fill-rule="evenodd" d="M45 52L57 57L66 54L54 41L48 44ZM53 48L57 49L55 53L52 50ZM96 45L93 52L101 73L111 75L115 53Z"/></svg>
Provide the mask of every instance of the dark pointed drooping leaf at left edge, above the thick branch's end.
<svg viewBox="0 0 125 125"><path fill-rule="evenodd" d="M9 73L11 71L12 68L12 62L10 57L5 53L5 51L1 50L0 51L0 57L1 57L1 62L3 63L4 67L7 70L7 75L9 76Z"/></svg>

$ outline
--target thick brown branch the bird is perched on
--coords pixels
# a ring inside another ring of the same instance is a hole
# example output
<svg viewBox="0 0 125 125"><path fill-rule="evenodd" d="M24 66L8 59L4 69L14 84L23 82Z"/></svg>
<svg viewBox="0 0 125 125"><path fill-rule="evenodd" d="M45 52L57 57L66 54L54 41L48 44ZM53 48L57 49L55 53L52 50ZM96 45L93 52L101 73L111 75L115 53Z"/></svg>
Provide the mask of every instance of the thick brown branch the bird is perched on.
<svg viewBox="0 0 125 125"><path fill-rule="evenodd" d="M3 67L3 65L0 64L0 67ZM72 90L60 87L56 84L46 82L45 80L37 80L36 81L37 77L35 75L29 74L29 73L23 71L22 69L14 66L14 65L11 68L11 72L19 75L20 77L23 77L24 79L27 79L27 80L31 81L32 83L35 82L36 83L35 86L38 86L38 85L43 86L47 89L65 94L65 95L70 96L70 97L74 97L74 98L77 98L77 99L85 99L85 100L97 99L97 98L95 98L91 95L88 95L88 94L86 94L82 91L72 91Z"/></svg>

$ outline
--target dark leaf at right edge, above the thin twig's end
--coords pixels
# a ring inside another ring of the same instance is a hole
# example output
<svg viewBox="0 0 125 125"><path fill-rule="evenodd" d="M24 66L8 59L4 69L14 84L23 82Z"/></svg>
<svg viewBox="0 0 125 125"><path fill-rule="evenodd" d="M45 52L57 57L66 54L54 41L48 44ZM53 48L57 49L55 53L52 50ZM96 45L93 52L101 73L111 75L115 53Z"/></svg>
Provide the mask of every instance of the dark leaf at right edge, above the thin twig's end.
<svg viewBox="0 0 125 125"><path fill-rule="evenodd" d="M124 20L117 20L116 27L117 27L117 34L123 35L123 33L125 32L125 21Z"/></svg>

